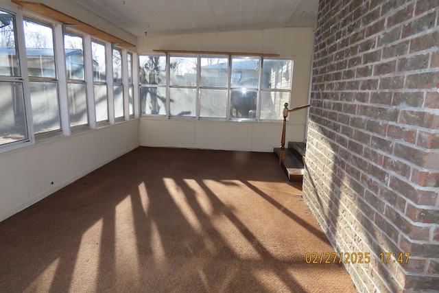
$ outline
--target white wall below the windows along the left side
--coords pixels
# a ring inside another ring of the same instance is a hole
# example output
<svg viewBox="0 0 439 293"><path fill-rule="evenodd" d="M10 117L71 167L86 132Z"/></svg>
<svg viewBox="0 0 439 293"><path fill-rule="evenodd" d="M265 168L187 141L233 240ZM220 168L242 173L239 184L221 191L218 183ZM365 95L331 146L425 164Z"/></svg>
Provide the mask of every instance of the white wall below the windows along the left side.
<svg viewBox="0 0 439 293"><path fill-rule="evenodd" d="M0 221L138 146L133 119L0 154Z"/></svg>

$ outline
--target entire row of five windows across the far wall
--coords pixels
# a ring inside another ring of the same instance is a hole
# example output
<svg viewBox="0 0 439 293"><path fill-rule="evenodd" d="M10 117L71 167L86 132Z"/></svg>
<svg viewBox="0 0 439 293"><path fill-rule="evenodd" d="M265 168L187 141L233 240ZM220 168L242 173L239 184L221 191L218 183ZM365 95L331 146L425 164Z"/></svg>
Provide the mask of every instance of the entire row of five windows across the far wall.
<svg viewBox="0 0 439 293"><path fill-rule="evenodd" d="M292 60L204 54L139 60L141 115L278 121L291 97Z"/></svg>

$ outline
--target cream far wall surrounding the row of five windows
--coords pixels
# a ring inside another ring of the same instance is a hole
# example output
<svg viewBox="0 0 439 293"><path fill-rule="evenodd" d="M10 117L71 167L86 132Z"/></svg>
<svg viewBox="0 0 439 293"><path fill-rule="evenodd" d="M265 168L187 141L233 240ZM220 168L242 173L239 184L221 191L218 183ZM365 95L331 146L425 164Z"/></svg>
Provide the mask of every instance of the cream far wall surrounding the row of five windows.
<svg viewBox="0 0 439 293"><path fill-rule="evenodd" d="M308 102L312 46L313 30L309 27L137 38L139 54L165 49L266 53L293 58L289 108ZM290 113L287 141L303 141L306 122L307 110ZM139 130L144 146L272 152L281 144L282 125L147 117L141 118Z"/></svg>

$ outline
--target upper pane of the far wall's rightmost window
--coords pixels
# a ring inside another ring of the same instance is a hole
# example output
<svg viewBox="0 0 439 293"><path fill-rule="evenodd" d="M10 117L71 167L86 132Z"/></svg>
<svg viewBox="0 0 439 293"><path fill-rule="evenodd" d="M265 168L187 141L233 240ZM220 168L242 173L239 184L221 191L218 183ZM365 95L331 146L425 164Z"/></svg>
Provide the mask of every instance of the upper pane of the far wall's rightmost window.
<svg viewBox="0 0 439 293"><path fill-rule="evenodd" d="M291 89L292 60L263 60L262 88Z"/></svg>

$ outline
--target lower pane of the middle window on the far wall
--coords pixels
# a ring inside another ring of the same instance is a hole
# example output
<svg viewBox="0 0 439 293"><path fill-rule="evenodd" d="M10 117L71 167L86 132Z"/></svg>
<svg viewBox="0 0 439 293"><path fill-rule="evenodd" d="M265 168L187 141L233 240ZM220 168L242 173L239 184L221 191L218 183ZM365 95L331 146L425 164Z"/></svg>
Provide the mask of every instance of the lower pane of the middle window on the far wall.
<svg viewBox="0 0 439 293"><path fill-rule="evenodd" d="M226 106L226 90L200 90L200 116L226 117Z"/></svg>

